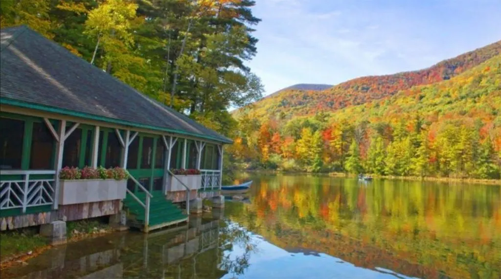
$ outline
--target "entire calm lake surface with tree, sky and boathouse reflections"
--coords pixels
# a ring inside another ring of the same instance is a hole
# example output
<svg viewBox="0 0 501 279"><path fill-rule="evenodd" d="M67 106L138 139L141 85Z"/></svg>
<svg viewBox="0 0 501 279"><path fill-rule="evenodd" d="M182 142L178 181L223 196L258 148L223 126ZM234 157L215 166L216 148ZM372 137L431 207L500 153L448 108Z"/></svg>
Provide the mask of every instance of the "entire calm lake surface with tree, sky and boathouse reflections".
<svg viewBox="0 0 501 279"><path fill-rule="evenodd" d="M47 251L2 278L499 278L501 186L251 177L246 201Z"/></svg>

